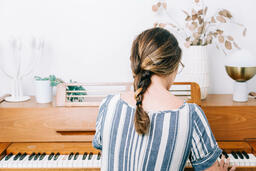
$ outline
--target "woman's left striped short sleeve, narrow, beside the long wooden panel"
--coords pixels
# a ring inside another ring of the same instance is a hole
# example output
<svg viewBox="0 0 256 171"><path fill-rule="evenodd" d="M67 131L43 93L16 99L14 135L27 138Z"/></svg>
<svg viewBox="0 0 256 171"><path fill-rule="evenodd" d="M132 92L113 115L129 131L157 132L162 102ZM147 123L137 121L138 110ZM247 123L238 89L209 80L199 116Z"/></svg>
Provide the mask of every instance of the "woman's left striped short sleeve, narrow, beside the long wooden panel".
<svg viewBox="0 0 256 171"><path fill-rule="evenodd" d="M99 113L96 120L96 132L92 141L92 145L94 148L99 150L102 150L102 134L104 128L104 120L110 98L111 96L109 95L101 101L101 104L99 106Z"/></svg>

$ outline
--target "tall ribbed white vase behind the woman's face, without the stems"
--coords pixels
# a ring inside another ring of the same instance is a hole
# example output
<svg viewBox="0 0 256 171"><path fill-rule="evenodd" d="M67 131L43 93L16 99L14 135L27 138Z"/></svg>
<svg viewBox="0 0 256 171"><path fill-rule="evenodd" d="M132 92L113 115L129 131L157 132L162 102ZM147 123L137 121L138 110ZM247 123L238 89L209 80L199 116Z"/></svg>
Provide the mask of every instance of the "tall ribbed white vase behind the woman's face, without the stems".
<svg viewBox="0 0 256 171"><path fill-rule="evenodd" d="M191 46L183 49L182 62L185 67L176 81L196 82L200 86L201 99L208 95L210 84L207 46Z"/></svg>

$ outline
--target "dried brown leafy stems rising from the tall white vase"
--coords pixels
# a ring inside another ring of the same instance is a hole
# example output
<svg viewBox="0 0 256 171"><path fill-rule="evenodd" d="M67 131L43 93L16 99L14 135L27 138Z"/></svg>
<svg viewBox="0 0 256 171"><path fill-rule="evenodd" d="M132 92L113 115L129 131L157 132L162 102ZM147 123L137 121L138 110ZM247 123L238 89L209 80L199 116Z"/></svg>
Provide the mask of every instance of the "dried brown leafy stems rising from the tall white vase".
<svg viewBox="0 0 256 171"><path fill-rule="evenodd" d="M217 49L221 49L226 55L226 50L233 47L240 49L231 35L224 34L222 24L235 24L243 28L243 36L246 35L247 28L235 22L233 16L227 9L220 9L215 15L206 18L208 7L203 0L193 0L191 14L183 10L186 15L185 28L181 27L167 11L167 2L157 2L152 6L152 11L163 10L171 19L170 23L155 23L155 27L167 27L179 33L185 40L185 47L206 46L214 43Z"/></svg>

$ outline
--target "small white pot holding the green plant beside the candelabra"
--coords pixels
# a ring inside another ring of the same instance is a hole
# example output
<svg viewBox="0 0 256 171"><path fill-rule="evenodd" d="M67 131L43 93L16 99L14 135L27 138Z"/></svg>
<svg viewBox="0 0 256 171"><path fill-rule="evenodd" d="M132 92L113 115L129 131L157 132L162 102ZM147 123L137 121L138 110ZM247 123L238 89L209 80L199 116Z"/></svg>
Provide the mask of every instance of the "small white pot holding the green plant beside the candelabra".
<svg viewBox="0 0 256 171"><path fill-rule="evenodd" d="M37 103L50 103L52 101L52 87L49 80L35 80Z"/></svg>

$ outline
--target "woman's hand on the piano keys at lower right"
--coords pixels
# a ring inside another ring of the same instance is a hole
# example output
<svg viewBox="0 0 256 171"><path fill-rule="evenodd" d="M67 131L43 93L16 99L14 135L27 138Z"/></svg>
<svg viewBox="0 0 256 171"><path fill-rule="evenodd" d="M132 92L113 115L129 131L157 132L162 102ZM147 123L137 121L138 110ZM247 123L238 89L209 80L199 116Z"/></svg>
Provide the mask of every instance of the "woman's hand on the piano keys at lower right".
<svg viewBox="0 0 256 171"><path fill-rule="evenodd" d="M205 171L228 171L228 166L230 163L230 158L226 159L225 162L225 156L221 156L220 161L216 161L210 168L206 169ZM236 165L233 166L229 171L236 170Z"/></svg>

